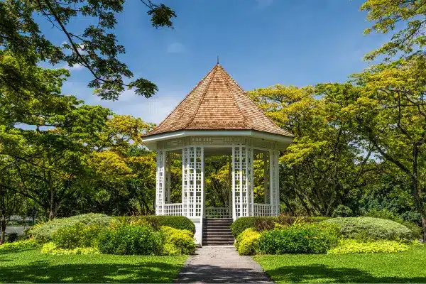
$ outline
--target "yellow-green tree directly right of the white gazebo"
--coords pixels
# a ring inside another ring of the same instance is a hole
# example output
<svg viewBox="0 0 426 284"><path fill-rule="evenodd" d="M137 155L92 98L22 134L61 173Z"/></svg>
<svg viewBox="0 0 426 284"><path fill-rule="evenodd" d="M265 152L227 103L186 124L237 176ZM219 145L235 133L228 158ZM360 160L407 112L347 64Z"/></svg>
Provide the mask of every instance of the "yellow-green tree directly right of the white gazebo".
<svg viewBox="0 0 426 284"><path fill-rule="evenodd" d="M275 85L250 92L278 126L295 136L280 157L281 200L288 212L302 208L307 214L331 216L337 205L353 204L359 195L356 188L371 147L357 140L351 121L342 116L354 92L350 84Z"/></svg>

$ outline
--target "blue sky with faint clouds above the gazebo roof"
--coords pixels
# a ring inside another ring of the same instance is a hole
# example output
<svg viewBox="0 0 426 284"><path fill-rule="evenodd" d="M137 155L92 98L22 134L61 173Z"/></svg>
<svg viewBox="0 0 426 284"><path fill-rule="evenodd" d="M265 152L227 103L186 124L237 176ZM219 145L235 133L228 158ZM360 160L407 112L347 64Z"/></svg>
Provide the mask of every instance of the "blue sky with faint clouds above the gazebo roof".
<svg viewBox="0 0 426 284"><path fill-rule="evenodd" d="M120 59L135 77L158 84L151 99L126 91L119 101L102 101L87 88L90 74L71 68L65 94L102 104L119 114L159 123L214 66L217 55L225 70L245 90L273 84L305 86L343 82L363 70L365 53L378 48L383 35L362 35L370 26L358 0L155 0L172 7L174 29L151 26L146 7L128 0L118 17L116 35L126 48ZM76 31L89 23L79 19ZM41 23L48 38L65 38Z"/></svg>

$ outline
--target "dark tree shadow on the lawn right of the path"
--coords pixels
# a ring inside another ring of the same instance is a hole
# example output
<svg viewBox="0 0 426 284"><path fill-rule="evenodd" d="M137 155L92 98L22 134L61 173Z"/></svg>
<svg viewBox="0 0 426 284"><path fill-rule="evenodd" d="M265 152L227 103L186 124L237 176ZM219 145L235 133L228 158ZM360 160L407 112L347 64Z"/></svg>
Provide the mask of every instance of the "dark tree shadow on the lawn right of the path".
<svg viewBox="0 0 426 284"><path fill-rule="evenodd" d="M329 268L324 265L284 266L267 272L273 280L281 283L426 283L426 277L378 277L356 268Z"/></svg>

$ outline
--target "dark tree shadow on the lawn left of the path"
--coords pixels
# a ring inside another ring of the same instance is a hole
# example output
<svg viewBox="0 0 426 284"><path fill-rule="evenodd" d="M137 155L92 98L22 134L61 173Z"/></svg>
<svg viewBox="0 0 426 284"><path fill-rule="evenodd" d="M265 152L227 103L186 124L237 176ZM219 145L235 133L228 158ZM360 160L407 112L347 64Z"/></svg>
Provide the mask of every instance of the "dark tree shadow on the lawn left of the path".
<svg viewBox="0 0 426 284"><path fill-rule="evenodd" d="M0 283L172 283L180 267L160 262L55 266L48 261L36 261L29 265L0 268Z"/></svg>

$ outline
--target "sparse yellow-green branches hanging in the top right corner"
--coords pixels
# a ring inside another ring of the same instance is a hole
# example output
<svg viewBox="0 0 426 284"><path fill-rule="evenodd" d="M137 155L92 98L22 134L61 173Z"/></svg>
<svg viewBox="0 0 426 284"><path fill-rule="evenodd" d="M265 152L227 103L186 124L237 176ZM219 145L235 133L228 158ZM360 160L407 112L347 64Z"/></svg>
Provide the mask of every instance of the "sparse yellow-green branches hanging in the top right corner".
<svg viewBox="0 0 426 284"><path fill-rule="evenodd" d="M367 20L374 22L364 31L366 34L389 33L400 28L388 43L368 53L366 59L386 55L386 60L391 60L398 53L403 56L422 53L426 45L426 0L367 0L361 10L367 11Z"/></svg>

